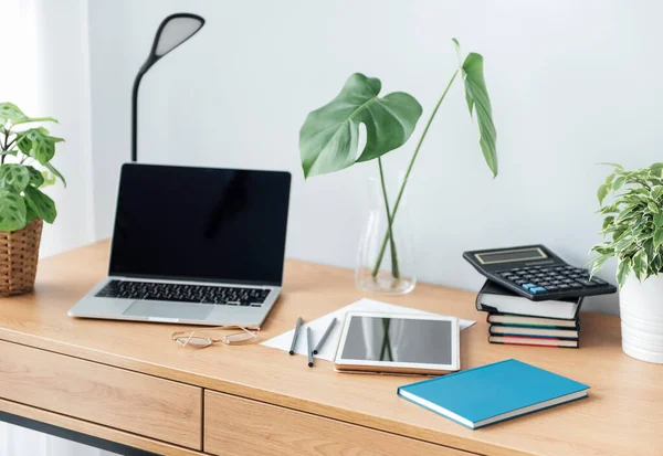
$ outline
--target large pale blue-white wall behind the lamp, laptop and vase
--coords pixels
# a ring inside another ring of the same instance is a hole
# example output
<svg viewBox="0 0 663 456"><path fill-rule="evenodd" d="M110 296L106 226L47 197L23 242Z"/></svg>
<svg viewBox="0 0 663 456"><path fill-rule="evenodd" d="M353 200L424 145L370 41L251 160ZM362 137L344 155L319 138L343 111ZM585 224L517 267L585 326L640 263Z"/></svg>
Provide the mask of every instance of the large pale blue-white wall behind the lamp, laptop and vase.
<svg viewBox="0 0 663 456"><path fill-rule="evenodd" d="M181 10L208 22L143 82L140 160L291 170L291 257L354 266L375 171L369 163L304 182L306 114L360 71L380 77L385 93L414 95L425 118L456 64L452 36L485 56L501 173L491 179L455 86L410 187L421 279L477 289L461 254L478 247L544 243L583 264L600 229L594 195L607 170L596 163L661 160L660 2L92 0L97 237L110 233L129 158L133 78L161 19ZM387 159L393 174L414 139ZM615 312L617 300L587 307Z"/></svg>

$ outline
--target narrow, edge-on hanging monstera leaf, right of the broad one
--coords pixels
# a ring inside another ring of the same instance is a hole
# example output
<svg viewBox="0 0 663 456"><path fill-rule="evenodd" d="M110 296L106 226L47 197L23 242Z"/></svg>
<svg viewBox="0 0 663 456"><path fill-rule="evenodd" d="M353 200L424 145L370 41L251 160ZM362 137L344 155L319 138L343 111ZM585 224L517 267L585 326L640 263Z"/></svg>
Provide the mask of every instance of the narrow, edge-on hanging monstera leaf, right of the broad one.
<svg viewBox="0 0 663 456"><path fill-rule="evenodd" d="M454 41L457 44L457 40ZM470 108L470 116L474 109L476 123L478 125L478 144L483 151L484 159L493 171L493 177L497 176L497 131L493 124L493 109L491 98L486 88L486 82L483 71L483 56L474 52L467 54L462 66L463 79L465 82L465 100Z"/></svg>

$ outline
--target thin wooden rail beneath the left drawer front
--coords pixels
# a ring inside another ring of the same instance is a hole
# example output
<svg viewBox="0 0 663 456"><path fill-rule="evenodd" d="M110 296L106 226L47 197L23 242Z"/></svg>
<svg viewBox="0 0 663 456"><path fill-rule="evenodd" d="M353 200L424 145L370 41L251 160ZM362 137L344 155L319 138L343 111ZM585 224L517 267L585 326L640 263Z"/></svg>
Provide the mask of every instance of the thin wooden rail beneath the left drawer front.
<svg viewBox="0 0 663 456"><path fill-rule="evenodd" d="M151 438L147 438L140 435L115 430L113 427L102 426L101 424L90 423L83 420L72 418L71 416L60 415L57 413L49 412L45 410L31 407L29 405L6 401L3 399L0 399L0 411L11 413L13 415L23 416L25 418L35 420L41 423L52 424L53 426L64 427L66 430L80 432L82 434L92 435L94 437L104 438L106 441L116 442L118 444L128 445L130 447L156 453L158 455L204 455L203 453L194 452L192 449L170 445L165 442L154 441Z"/></svg>

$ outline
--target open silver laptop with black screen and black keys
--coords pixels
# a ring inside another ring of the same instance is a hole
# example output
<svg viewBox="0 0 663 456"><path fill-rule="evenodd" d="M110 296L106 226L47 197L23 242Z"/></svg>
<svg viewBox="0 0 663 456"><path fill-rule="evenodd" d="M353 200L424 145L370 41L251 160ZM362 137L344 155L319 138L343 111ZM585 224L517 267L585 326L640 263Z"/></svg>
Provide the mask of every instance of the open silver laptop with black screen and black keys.
<svg viewBox="0 0 663 456"><path fill-rule="evenodd" d="M283 283L291 174L127 163L108 277L72 317L257 329Z"/></svg>

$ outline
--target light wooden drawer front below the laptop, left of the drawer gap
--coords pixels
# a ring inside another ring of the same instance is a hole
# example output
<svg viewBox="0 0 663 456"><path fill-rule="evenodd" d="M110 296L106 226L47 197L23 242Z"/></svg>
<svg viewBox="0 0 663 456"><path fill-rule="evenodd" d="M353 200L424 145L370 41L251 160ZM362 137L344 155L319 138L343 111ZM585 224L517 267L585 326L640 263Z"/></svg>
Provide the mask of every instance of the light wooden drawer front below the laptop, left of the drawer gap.
<svg viewBox="0 0 663 456"><path fill-rule="evenodd" d="M201 449L200 388L0 341L0 397Z"/></svg>

